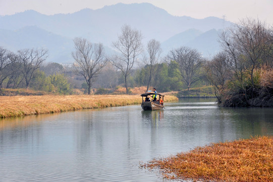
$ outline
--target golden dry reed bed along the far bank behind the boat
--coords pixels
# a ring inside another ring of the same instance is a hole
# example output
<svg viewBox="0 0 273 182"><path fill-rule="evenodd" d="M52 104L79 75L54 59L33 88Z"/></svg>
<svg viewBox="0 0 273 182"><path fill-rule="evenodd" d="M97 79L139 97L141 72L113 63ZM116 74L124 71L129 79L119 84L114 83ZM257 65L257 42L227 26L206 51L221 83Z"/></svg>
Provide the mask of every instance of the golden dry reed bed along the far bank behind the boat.
<svg viewBox="0 0 273 182"><path fill-rule="evenodd" d="M166 96L165 101L177 101ZM2 96L0 118L140 104L139 95Z"/></svg>

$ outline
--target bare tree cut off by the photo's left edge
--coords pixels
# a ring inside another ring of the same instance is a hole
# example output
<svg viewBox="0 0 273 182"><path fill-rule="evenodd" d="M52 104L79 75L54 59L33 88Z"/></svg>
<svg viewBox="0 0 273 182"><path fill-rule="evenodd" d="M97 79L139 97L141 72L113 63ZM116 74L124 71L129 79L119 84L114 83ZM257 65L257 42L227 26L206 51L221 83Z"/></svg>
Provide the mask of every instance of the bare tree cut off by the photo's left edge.
<svg viewBox="0 0 273 182"><path fill-rule="evenodd" d="M7 69L12 64L12 53L0 47L0 89L3 81L9 76L10 71Z"/></svg>

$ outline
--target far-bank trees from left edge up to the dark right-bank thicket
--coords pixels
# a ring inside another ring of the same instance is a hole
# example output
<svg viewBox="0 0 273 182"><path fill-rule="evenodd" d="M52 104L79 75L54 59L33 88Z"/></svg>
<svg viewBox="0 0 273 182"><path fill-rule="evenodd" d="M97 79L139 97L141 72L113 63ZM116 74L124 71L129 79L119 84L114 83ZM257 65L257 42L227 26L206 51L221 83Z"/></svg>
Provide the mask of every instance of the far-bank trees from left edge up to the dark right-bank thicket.
<svg viewBox="0 0 273 182"><path fill-rule="evenodd" d="M188 73L189 64L180 64L184 58L188 57L189 60L195 54L192 61L200 62L201 56L196 50L181 47L176 50L178 55L174 51L162 58L159 41L151 39L144 46L142 39L140 31L124 25L117 41L113 42L115 54L106 55L101 43L76 37L71 54L75 60L73 65L45 64L49 53L43 48L12 53L0 47L0 89L31 88L72 94L73 88L83 88L86 94L91 94L93 87L115 88L124 85L126 93L130 94L129 87L146 86L148 91L150 86L158 86L161 92L166 92L182 89L184 80L190 88L199 79L196 79L196 70L193 69L194 74ZM187 55L184 58L179 53L183 51ZM199 69L200 64L196 66L193 63L193 66ZM181 74L180 69L185 71L186 76Z"/></svg>

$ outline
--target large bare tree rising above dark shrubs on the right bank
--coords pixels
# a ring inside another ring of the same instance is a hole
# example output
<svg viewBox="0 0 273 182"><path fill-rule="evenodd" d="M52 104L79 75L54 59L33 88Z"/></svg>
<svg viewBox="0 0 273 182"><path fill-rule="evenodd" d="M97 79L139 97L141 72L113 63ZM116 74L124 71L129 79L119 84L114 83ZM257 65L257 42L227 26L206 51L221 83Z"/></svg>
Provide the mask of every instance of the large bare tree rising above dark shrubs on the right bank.
<svg viewBox="0 0 273 182"><path fill-rule="evenodd" d="M250 75L252 87L255 87L254 70L262 65L272 67L271 40L266 24L254 19L241 20L220 35L222 47L232 58L233 70L240 82L247 73Z"/></svg>

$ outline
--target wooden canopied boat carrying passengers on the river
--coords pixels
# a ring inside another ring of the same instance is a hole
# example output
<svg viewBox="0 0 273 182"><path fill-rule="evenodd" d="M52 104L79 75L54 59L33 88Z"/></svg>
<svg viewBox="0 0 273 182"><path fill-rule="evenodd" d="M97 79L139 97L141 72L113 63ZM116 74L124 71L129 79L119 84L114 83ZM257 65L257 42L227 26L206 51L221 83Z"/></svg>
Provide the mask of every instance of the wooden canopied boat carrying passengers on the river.
<svg viewBox="0 0 273 182"><path fill-rule="evenodd" d="M163 109L165 108L163 106L163 103L160 105L159 100L157 101L153 101L152 100L152 95L154 95L154 92L150 92L150 93L145 93L145 94L141 94L140 96L142 97L142 103L141 103L141 107L143 110L159 110L159 109ZM162 98L162 101L164 101L164 96L161 94L156 93L157 98L159 99L159 97ZM149 98L150 97L150 101L145 101L143 98Z"/></svg>

